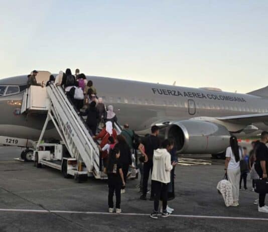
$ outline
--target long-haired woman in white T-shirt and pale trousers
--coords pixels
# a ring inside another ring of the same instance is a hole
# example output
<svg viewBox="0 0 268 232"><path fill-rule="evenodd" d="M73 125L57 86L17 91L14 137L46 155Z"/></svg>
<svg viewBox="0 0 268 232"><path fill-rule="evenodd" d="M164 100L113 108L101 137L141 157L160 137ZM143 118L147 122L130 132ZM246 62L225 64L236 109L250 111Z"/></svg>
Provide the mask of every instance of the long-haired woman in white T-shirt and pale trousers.
<svg viewBox="0 0 268 232"><path fill-rule="evenodd" d="M233 204L239 205L239 181L240 181L240 160L242 159L242 149L238 146L237 138L231 136L230 147L226 149L225 173L232 184Z"/></svg>

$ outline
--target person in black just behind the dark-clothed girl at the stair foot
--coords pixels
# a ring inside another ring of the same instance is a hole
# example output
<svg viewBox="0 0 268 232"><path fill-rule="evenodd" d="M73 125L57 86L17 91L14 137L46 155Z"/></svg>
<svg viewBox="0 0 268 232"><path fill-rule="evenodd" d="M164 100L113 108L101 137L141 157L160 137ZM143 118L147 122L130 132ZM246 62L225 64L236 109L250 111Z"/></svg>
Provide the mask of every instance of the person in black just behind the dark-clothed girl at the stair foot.
<svg viewBox="0 0 268 232"><path fill-rule="evenodd" d="M120 164L122 166L122 171L123 171L123 176L124 176L124 182L126 182L126 176L128 172L129 165L132 164L132 159L131 159L131 152L128 144L125 141L125 138L121 135L118 135L116 137L117 139L117 144L115 147L117 147L120 151ZM122 186L122 191L121 193L125 192L125 186Z"/></svg>

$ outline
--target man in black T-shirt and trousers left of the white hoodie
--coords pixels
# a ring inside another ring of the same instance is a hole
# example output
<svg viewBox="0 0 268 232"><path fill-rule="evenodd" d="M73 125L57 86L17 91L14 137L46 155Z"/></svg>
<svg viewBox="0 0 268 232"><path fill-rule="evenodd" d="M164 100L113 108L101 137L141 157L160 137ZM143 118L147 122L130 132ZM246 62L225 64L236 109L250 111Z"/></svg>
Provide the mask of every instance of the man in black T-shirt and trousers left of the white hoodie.
<svg viewBox="0 0 268 232"><path fill-rule="evenodd" d="M147 195L147 187L148 187L148 179L150 172L152 174L153 171L153 156L154 150L160 148L160 139L158 138L159 135L159 127L153 126L151 128L152 134L146 139L144 142L145 149L143 150L143 145L139 146L139 150L142 155L145 157L144 162L144 177L143 177L143 195L140 197L141 200L146 200ZM150 200L154 200L154 192L153 186L151 184L151 197Z"/></svg>

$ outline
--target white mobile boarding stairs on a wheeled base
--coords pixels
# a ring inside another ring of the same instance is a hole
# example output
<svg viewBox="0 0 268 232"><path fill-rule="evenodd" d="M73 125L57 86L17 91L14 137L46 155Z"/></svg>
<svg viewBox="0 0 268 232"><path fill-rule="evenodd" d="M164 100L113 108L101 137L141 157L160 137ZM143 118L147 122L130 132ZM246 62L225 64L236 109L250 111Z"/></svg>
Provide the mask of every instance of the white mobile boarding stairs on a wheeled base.
<svg viewBox="0 0 268 232"><path fill-rule="evenodd" d="M74 176L78 181L88 176L94 176L96 179L107 178L99 168L98 145L91 137L83 118L78 115L60 86L55 84L46 88L30 86L24 94L22 103L22 113L25 111L47 112L33 155L37 167L46 165L56 168L62 171L65 178ZM59 133L61 144L42 143L49 121L53 122ZM117 124L115 130L120 134L121 129Z"/></svg>

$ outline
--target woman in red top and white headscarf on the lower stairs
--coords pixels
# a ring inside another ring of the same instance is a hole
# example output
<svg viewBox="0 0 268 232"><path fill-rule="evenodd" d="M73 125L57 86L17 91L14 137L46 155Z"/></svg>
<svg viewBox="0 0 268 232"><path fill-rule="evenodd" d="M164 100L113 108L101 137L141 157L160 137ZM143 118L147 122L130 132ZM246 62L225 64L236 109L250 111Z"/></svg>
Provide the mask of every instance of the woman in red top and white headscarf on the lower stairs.
<svg viewBox="0 0 268 232"><path fill-rule="evenodd" d="M103 148L108 143L108 139L110 136L112 136L114 141L116 141L117 133L113 129L112 123L106 122L105 127L102 129L102 131L96 137L93 137L93 139L101 140L100 148ZM107 151L101 152L101 159L103 159L104 166L105 166L105 163L106 163L105 161L107 157L108 157ZM100 159L100 170L101 170L101 159Z"/></svg>

